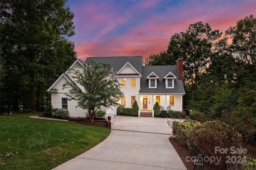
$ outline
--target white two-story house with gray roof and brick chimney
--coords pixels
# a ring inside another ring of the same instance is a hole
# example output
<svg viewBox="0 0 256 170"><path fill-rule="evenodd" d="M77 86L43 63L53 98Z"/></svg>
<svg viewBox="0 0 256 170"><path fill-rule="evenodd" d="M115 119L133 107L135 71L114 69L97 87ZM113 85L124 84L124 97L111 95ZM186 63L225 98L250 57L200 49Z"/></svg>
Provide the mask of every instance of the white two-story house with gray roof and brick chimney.
<svg viewBox="0 0 256 170"><path fill-rule="evenodd" d="M110 64L113 76L122 84L121 91L124 98L120 104L124 107L132 107L135 100L140 108L139 116L143 112L154 116L153 106L156 102L161 109L183 109L183 60L179 58L176 65L170 66L145 66L142 56L135 57L88 57L85 62L77 59L70 68L83 70L84 64L91 61ZM70 69L69 68L69 69ZM52 95L54 108L66 108L68 117L85 117L87 110L76 107L76 101L68 101L64 92L75 93L72 89L62 90L66 81L74 81L70 71L63 73L47 90ZM116 107L112 109L101 108L107 114L116 115Z"/></svg>

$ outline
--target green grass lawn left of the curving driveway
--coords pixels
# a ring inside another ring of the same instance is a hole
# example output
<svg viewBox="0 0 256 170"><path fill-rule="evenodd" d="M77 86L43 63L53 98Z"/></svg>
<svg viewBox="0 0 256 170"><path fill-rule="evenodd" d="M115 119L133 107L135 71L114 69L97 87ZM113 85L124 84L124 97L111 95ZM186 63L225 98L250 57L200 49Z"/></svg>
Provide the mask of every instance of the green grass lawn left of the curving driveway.
<svg viewBox="0 0 256 170"><path fill-rule="evenodd" d="M0 116L0 169L52 169L94 147L110 129L70 121Z"/></svg>

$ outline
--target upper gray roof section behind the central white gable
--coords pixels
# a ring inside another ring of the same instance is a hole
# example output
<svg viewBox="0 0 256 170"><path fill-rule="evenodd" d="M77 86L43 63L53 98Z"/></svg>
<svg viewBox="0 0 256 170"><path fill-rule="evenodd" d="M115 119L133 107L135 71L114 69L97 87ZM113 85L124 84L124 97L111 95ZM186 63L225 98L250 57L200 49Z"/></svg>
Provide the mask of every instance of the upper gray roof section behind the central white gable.
<svg viewBox="0 0 256 170"><path fill-rule="evenodd" d="M127 62L132 65L132 67L142 75L142 56L133 56L133 57L87 57L86 63L91 63L95 61L98 63L110 64L114 70L119 72L122 67L127 64Z"/></svg>

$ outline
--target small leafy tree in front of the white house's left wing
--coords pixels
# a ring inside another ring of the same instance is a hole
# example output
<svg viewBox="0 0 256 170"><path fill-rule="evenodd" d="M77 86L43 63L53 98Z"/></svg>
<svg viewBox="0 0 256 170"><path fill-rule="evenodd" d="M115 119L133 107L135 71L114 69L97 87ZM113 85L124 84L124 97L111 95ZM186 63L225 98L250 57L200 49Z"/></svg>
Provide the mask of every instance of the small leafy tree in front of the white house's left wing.
<svg viewBox="0 0 256 170"><path fill-rule="evenodd" d="M83 72L74 71L76 81L66 82L63 88L72 88L75 95L64 93L68 100L76 100L78 106L87 109L90 121L94 121L94 115L100 106L119 106L118 101L123 94L120 91L121 84L110 75L110 65L92 62L84 65ZM111 76L112 78L108 78Z"/></svg>

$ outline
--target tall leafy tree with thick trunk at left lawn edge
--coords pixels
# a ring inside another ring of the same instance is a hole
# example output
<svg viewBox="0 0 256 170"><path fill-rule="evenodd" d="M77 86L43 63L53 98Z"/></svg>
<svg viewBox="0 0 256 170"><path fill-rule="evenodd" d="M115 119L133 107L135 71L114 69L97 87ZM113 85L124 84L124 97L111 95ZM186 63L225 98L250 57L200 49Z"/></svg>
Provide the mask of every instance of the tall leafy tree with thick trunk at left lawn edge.
<svg viewBox="0 0 256 170"><path fill-rule="evenodd" d="M14 77L8 76L12 78L9 84L22 84L26 94L27 90L30 91L31 110L36 108L35 89L38 87L39 92L42 88L40 84L46 84L44 77L56 74L58 67L63 66L56 65L57 59L53 59L58 56L56 42L64 42L61 41L62 35L74 35L74 14L65 4L66 0L0 1L1 55L6 61L4 69L11 69L14 73ZM68 47L72 43L66 41L66 44ZM20 90L17 89L18 94ZM15 103L18 105L21 102Z"/></svg>

